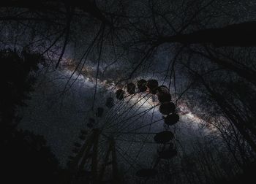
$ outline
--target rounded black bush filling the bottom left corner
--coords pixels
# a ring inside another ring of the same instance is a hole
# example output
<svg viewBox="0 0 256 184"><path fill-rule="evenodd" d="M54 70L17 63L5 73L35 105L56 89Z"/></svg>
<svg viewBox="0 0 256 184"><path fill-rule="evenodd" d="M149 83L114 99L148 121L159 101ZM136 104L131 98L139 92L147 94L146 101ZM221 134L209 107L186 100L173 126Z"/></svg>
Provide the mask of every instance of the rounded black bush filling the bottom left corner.
<svg viewBox="0 0 256 184"><path fill-rule="evenodd" d="M15 131L1 144L2 181L58 183L59 163L42 136Z"/></svg>

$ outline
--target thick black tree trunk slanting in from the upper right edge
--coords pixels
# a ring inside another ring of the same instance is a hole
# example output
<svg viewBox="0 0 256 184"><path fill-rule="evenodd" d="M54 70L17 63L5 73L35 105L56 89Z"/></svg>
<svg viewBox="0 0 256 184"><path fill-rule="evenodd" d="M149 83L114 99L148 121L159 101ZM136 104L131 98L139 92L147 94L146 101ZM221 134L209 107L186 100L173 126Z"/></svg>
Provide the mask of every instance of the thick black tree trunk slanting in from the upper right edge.
<svg viewBox="0 0 256 184"><path fill-rule="evenodd" d="M159 44L165 42L180 42L189 44L211 43L216 47L239 46L252 47L256 45L256 22L238 23L223 28L208 28L190 34L177 34L172 37L162 37Z"/></svg>

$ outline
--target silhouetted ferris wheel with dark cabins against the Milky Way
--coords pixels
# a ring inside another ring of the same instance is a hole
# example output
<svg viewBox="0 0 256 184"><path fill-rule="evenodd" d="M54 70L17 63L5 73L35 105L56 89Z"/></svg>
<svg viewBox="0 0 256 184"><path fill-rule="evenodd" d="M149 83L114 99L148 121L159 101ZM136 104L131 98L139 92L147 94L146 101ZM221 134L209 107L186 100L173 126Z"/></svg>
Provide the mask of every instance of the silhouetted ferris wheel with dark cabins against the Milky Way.
<svg viewBox="0 0 256 184"><path fill-rule="evenodd" d="M177 155L179 115L169 88L140 79L113 88L104 101L74 142L67 164L73 183L125 183L127 175L154 180L159 162Z"/></svg>

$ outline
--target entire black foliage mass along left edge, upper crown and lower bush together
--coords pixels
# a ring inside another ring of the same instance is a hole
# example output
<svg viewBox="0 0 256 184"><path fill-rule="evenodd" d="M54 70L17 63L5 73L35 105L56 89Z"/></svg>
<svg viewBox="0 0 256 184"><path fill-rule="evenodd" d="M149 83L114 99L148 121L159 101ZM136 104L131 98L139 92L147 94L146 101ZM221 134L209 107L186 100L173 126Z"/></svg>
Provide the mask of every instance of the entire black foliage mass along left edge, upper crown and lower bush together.
<svg viewBox="0 0 256 184"><path fill-rule="evenodd" d="M26 105L36 79L33 72L44 58L25 50L1 50L0 61L1 183L65 183L61 180L67 177L59 177L65 171L44 137L16 129L20 120L16 111Z"/></svg>

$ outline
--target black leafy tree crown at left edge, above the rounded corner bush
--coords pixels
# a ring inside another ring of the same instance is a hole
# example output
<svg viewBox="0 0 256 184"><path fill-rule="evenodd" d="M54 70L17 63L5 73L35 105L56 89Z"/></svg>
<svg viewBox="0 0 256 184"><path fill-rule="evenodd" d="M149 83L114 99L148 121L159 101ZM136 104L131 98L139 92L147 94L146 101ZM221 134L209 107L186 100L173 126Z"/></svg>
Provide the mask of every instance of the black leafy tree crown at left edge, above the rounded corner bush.
<svg viewBox="0 0 256 184"><path fill-rule="evenodd" d="M1 80L1 125L5 131L14 128L20 118L16 115L18 106L25 106L29 92L33 91L35 82L33 72L37 64L43 64L44 58L39 53L29 53L23 50L0 51L0 80ZM3 130L2 129L2 130Z"/></svg>

